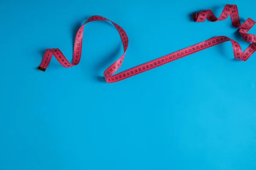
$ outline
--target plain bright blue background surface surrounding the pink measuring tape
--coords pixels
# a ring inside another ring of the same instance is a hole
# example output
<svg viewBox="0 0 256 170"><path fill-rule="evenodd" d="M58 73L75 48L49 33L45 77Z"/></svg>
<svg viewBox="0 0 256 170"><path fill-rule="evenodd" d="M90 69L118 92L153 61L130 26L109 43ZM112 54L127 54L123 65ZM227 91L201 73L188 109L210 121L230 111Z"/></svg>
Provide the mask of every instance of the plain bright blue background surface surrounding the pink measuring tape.
<svg viewBox="0 0 256 170"><path fill-rule="evenodd" d="M220 35L244 50L230 17L195 23L191 14L219 16L230 3L256 20L252 2L1 0L0 170L255 170L256 54L235 61L230 42L108 84L100 77L122 45L111 24L93 22L79 65L53 58L36 70L47 48L71 61L92 15L128 34L118 72Z"/></svg>

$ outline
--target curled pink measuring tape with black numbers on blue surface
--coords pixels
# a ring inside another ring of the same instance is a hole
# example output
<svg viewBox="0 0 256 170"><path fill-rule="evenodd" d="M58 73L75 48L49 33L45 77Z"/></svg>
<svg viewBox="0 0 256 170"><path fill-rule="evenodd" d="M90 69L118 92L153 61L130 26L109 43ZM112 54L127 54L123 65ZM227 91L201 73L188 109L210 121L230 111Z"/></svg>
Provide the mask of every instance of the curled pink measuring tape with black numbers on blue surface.
<svg viewBox="0 0 256 170"><path fill-rule="evenodd" d="M99 20L106 20L113 23L113 25L116 27L117 31L119 32L119 35L122 40L123 48L124 48L124 54L116 60L112 65L110 65L105 71L104 71L104 77L106 82L118 82L123 79L127 79L128 77L132 77L134 75L143 73L145 71L148 71L152 68L159 67L160 65L166 64L168 62L172 62L176 59L180 59L181 57L188 56L190 54L193 54L195 52L204 50L206 48L212 47L214 45L218 45L222 42L231 41L233 46L233 52L235 59L239 59L242 61L246 61L255 51L256 51L256 36L253 34L247 34L247 32L250 30L250 28L253 27L255 24L255 21L251 18L248 18L242 25L240 23L239 14L238 14L238 8L236 5L226 5L224 10L222 11L219 18L215 17L215 15L212 13L211 10L204 10L199 13L194 14L194 21L195 22L204 22L206 19L215 22L215 21L221 21L227 19L227 17L230 15L231 21L233 26L236 28L239 28L239 33L244 41L252 42L248 48L244 52L242 52L240 45L230 39L226 36L218 36L211 38L209 40L205 40L203 42L199 42L198 44L189 46L187 48L184 48L182 50L176 51L174 53L168 54L166 56L154 59L152 61L146 62L142 65L138 65L134 68L130 68L126 71L122 71L121 73L113 75L120 66L123 63L123 60L125 58L125 53L128 48L128 37L125 31L116 23L112 22L111 20L108 20L105 17L101 16L92 16L90 17L80 28L79 31L76 34L75 39L75 45L74 45L74 51L73 51L73 61L72 64L64 57L62 52L58 48L50 48L47 49L44 53L44 57L42 59L41 64L38 67L38 70L45 71L47 66L49 65L49 62L51 61L52 54L54 57L58 60L58 62L61 63L65 68L70 68L75 65L78 65L81 59L81 50L82 50L82 42L83 42L83 30L84 25L86 23L92 22L92 21L99 21Z"/></svg>

